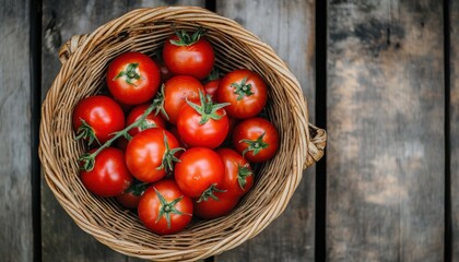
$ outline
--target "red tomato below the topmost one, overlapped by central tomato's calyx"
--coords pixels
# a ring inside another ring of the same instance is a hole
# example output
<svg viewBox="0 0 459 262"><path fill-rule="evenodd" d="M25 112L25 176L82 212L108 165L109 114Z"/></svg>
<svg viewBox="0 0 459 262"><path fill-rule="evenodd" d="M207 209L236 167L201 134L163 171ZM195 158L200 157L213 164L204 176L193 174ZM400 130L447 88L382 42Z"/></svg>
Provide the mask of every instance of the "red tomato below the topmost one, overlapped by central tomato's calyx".
<svg viewBox="0 0 459 262"><path fill-rule="evenodd" d="M188 100L199 99L199 92L204 92L201 82L189 75L176 75L165 83L164 110L167 120L176 124L181 106Z"/></svg>

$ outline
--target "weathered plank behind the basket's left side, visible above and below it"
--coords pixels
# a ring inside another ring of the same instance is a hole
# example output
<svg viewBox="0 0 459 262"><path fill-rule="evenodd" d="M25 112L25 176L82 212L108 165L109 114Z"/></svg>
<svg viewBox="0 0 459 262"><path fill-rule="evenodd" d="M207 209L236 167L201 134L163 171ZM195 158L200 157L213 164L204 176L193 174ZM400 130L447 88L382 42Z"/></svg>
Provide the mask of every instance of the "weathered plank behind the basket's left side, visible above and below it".
<svg viewBox="0 0 459 262"><path fill-rule="evenodd" d="M43 1L43 96L61 68L57 52L71 36L89 34L126 12L143 7L170 4L204 5L203 0L179 1ZM43 261L143 261L128 258L99 243L81 230L42 181Z"/></svg>

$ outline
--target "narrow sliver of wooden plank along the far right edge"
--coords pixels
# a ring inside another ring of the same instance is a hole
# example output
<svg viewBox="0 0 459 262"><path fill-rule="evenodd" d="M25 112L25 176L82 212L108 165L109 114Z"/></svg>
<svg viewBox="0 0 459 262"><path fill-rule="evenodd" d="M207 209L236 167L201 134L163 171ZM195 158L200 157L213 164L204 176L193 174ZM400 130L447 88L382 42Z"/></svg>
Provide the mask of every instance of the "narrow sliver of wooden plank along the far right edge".
<svg viewBox="0 0 459 262"><path fill-rule="evenodd" d="M450 1L451 255L459 260L459 1Z"/></svg>

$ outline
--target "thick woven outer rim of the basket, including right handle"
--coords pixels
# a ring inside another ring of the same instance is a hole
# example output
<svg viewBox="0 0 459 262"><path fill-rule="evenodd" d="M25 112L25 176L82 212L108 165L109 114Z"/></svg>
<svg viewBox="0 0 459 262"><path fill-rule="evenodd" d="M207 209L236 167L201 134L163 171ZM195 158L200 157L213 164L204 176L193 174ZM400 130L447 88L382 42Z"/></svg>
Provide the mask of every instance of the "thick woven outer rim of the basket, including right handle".
<svg viewBox="0 0 459 262"><path fill-rule="evenodd" d="M294 189L299 183L299 180L302 178L302 170L303 167L311 165L314 162L317 162L321 155L323 154L325 143L327 140L325 130L317 129L310 123L308 123L308 110L307 110L307 103L306 99L303 96L303 93L299 87L299 83L296 80L296 78L293 75L292 72L290 72L286 63L282 61L282 59L279 58L278 55L275 55L274 50L267 45L266 43L261 41L261 39L250 33L249 31L245 29L242 25L239 25L237 22L220 16L211 11L208 11L205 9L199 8L199 7L161 7L161 8L144 8L144 9L137 9L132 10L117 19L114 19L99 27L97 27L93 33L85 35L84 40L80 43L80 46L74 47L74 50L69 50L71 53L69 55L68 60L62 64L61 70L59 71L58 75L56 76L50 90L47 93L47 96L43 103L42 107L42 123L40 123L40 143L39 143L39 157L42 160L42 166L44 168L44 176L45 180L48 183L49 188L51 189L52 193L59 201L59 203L62 205L62 207L66 210L66 212L72 217L72 219L79 225L80 228L82 228L84 231L89 233L90 235L94 236L97 240L105 243L109 248L128 254L128 255L136 255L139 258L144 259L155 259L155 260L168 260L170 258L179 258L180 255L185 255L185 253L196 253L192 255L192 259L201 259L205 257L210 257L213 254L221 253L227 249L232 249L245 240L256 236L259 231L261 231L263 228L266 228L275 217L278 217L283 210L286 206L285 201L281 201L280 198L278 198L278 201L269 203L269 206L264 210L267 213L274 211L274 213L271 214L264 214L260 216L260 221L256 221L252 224L256 226L247 227L246 234L244 235L231 235L228 238L221 241L219 245L214 245L211 248L204 249L204 250L187 250L187 251L176 251L174 253L175 257L170 257L169 254L164 254L164 252L158 252L155 254L143 254L142 248L139 245L136 243L123 243L123 247L119 247L117 242L120 242L119 239L114 239L114 237L109 234L104 234L98 231L97 229L94 229L92 227L91 222L84 221L84 215L81 214L81 211L78 209L78 201L73 198L72 192L70 192L66 184L59 179L59 167L57 167L54 163L52 157L49 155L52 152L52 145L49 141L48 130L50 130L50 122L52 122L52 118L50 112L56 110L56 103L52 104L51 102L56 99L56 97L60 94L62 91L62 87L67 80L71 78L72 75L72 68L81 62L84 59L84 51L87 48L91 48L91 46L96 46L101 40L103 39L103 36L105 34L119 34L123 29L128 28L130 26L130 21L136 21L136 23L145 23L150 22L152 17L155 17L155 15L191 15L196 17L197 14L205 14L205 19L202 19L204 21L203 23L212 24L215 21L219 21L219 25L221 26L227 26L231 29L237 31L240 34L240 40L245 43L248 47L252 47L252 51L260 57L263 57L267 59L269 63L275 64L279 70L279 73L281 73L286 81L290 81L293 83L294 86L297 87L296 92L301 95L298 99L302 102L301 106L296 106L292 108L292 114L297 116L298 123L297 124L299 129L303 129L305 134L305 141L304 143L298 144L298 152L306 152L306 155L304 156L303 160L296 160L294 163L293 169L296 170L295 178L292 178L292 181L289 183L289 190L285 190L283 192L284 199L286 199L286 202L291 199ZM160 15L160 16L161 16ZM139 17L140 16L140 17ZM299 103L298 103L299 104ZM309 129L314 130L316 132L316 136L310 138ZM318 134L318 135L317 135ZM299 153L298 153L299 155ZM299 156L298 156L299 157ZM293 189L293 190L292 190ZM282 202L282 203L281 203ZM268 209L269 207L269 209ZM128 248L126 248L126 245ZM139 250L142 250L142 253L133 252L132 249L138 248ZM145 252L146 253L146 252ZM185 258L185 257L183 257ZM191 257L189 257L191 258Z"/></svg>

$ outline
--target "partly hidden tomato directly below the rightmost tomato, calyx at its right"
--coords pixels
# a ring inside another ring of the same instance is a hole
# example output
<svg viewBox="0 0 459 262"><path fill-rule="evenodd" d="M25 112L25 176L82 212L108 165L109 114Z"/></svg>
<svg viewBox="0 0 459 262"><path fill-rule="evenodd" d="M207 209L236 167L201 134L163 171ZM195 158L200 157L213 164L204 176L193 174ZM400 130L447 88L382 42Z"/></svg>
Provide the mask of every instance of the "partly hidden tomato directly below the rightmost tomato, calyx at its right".
<svg viewBox="0 0 459 262"><path fill-rule="evenodd" d="M254 186L254 171L250 164L236 151L220 148L216 153L225 164L225 178L220 183L225 195L240 198Z"/></svg>

